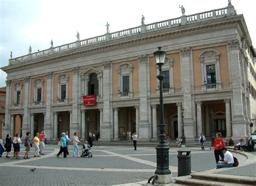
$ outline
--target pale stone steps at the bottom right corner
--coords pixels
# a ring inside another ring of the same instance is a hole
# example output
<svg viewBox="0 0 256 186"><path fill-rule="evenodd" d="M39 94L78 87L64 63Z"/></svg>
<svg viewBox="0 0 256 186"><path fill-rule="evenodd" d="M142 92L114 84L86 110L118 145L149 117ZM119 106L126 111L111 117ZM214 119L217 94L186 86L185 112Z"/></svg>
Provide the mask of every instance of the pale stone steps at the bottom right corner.
<svg viewBox="0 0 256 186"><path fill-rule="evenodd" d="M232 180L232 177L230 177ZM238 181L236 180L235 183L234 182L225 182L221 179L219 180L200 180L197 178L193 178L190 175L188 176L180 176L180 177L176 177L174 178L175 183L178 184L184 184L184 185L255 185L253 183L243 183L242 181Z"/></svg>

